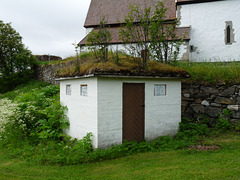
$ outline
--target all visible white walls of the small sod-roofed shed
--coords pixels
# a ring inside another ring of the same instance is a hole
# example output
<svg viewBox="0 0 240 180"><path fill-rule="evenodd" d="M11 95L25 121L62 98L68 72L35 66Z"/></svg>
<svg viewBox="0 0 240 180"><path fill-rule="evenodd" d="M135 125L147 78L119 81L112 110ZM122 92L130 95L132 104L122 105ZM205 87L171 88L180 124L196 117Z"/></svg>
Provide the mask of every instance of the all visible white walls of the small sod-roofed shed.
<svg viewBox="0 0 240 180"><path fill-rule="evenodd" d="M88 84L89 97L79 96L82 83ZM92 132L95 148L121 144L123 83L145 83L146 140L177 133L181 121L180 80L99 77L61 81L61 102L68 106L71 124L68 134L82 138ZM67 84L72 84L72 96L65 94ZM166 84L167 95L154 96L155 84Z"/></svg>

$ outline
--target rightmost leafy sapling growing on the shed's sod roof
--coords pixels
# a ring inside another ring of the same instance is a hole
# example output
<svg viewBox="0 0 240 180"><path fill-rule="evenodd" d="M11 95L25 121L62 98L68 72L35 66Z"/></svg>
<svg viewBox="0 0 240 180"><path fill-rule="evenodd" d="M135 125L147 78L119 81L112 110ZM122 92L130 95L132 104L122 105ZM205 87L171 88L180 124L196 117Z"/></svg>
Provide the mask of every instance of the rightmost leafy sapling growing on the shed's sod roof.
<svg viewBox="0 0 240 180"><path fill-rule="evenodd" d="M151 56L165 64L177 60L182 44L181 37L176 34L179 22L166 22L166 12L167 8L163 2L156 4L149 27Z"/></svg>

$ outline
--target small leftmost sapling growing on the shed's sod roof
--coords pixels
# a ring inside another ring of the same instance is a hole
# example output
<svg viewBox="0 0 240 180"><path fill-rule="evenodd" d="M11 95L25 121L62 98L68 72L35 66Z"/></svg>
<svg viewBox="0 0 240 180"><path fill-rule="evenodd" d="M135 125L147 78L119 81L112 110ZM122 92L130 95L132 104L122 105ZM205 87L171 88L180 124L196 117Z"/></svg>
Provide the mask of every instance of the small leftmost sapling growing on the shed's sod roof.
<svg viewBox="0 0 240 180"><path fill-rule="evenodd" d="M107 29L107 21L103 17L99 24L99 29L93 30L87 37L87 46L94 52L95 57L102 61L108 59L108 47L112 36Z"/></svg>

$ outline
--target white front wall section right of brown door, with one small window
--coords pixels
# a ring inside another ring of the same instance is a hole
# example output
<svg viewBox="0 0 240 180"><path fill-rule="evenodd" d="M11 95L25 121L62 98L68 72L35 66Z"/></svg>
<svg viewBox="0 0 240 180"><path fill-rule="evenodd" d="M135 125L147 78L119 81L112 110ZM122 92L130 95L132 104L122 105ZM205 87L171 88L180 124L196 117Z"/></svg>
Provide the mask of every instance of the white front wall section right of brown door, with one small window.
<svg viewBox="0 0 240 180"><path fill-rule="evenodd" d="M155 84L166 84L166 96L154 96ZM175 135L181 122L181 81L148 81L145 98L146 140Z"/></svg>

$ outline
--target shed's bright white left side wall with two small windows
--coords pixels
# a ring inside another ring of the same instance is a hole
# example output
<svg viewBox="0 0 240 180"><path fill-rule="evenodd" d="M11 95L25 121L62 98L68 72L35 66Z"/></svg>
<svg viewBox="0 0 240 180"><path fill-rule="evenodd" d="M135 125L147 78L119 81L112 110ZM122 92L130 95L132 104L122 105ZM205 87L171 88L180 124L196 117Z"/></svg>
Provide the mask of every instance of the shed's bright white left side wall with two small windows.
<svg viewBox="0 0 240 180"><path fill-rule="evenodd" d="M88 96L80 96L81 84L87 85ZM71 95L66 95L66 85L71 85ZM68 108L70 128L67 133L73 138L82 139L92 132L93 146L97 147L97 78L61 81L60 92L60 100Z"/></svg>

